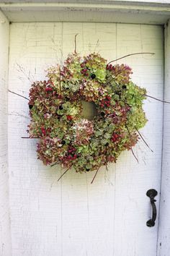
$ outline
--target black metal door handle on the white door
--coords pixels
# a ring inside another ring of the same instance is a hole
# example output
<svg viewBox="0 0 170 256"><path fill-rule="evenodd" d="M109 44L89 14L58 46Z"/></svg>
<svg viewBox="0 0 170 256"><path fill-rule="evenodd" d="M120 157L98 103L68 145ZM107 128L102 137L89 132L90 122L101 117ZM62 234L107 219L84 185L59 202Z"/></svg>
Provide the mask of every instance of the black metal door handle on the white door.
<svg viewBox="0 0 170 256"><path fill-rule="evenodd" d="M154 199L154 197L158 195L158 192L156 191L156 189L149 189L146 192L146 195L150 197L152 210L153 210L152 218L146 222L146 225L151 228L151 226L155 226L155 221L156 221L156 204L155 204L156 200Z"/></svg>

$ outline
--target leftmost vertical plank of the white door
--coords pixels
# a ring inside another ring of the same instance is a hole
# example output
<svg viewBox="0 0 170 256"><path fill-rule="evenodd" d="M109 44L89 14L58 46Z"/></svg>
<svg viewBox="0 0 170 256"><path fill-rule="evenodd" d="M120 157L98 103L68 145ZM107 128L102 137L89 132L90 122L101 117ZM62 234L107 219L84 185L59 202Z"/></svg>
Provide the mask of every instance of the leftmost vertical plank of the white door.
<svg viewBox="0 0 170 256"><path fill-rule="evenodd" d="M12 24L9 89L28 95L30 80L45 79L44 69L61 59L61 27ZM12 255L62 255L61 169L42 166L36 140L21 139L30 121L27 101L9 95L9 103Z"/></svg>

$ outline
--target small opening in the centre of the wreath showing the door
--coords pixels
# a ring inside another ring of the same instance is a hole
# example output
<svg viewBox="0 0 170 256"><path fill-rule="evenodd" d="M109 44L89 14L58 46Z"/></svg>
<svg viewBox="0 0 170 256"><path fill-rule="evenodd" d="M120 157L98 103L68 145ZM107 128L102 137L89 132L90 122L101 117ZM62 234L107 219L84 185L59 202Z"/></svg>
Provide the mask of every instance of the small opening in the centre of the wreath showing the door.
<svg viewBox="0 0 170 256"><path fill-rule="evenodd" d="M81 101L82 103L82 111L81 116L84 119L92 120L94 116L97 116L97 108L94 102L89 101Z"/></svg>

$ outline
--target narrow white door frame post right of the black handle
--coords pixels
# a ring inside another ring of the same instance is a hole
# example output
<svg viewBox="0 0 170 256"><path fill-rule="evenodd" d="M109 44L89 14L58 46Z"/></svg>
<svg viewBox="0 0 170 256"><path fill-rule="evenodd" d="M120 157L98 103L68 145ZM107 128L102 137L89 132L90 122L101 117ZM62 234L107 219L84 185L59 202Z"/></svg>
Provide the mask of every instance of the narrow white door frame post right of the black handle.
<svg viewBox="0 0 170 256"><path fill-rule="evenodd" d="M165 29L165 86L164 99L170 99L170 25L167 24ZM158 256L169 256L170 251L170 107L164 105L164 146L163 146L163 163L162 163L162 179L161 179L161 204L158 231Z"/></svg>

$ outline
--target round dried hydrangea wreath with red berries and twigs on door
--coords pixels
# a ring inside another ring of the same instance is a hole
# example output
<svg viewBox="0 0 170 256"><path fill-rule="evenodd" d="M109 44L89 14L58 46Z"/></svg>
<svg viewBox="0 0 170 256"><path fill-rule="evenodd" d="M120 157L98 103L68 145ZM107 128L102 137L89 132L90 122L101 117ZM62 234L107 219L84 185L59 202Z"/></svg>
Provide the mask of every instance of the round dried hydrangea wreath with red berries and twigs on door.
<svg viewBox="0 0 170 256"><path fill-rule="evenodd" d="M47 81L32 84L28 132L30 138L40 138L37 158L45 165L99 171L116 162L123 150L133 153L133 146L143 139L138 130L147 121L146 89L130 80L130 67L111 62L95 53L81 57L75 40L75 52L63 67L50 67ZM95 104L92 120L81 116L82 101Z"/></svg>

